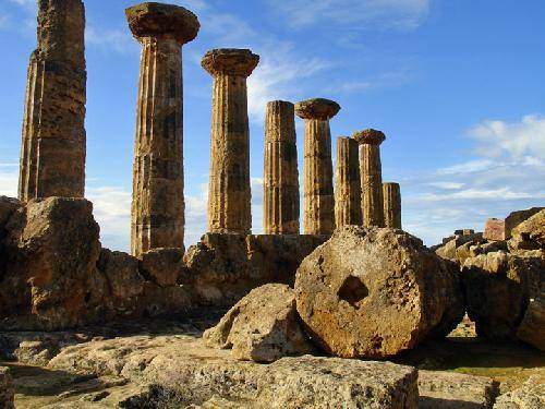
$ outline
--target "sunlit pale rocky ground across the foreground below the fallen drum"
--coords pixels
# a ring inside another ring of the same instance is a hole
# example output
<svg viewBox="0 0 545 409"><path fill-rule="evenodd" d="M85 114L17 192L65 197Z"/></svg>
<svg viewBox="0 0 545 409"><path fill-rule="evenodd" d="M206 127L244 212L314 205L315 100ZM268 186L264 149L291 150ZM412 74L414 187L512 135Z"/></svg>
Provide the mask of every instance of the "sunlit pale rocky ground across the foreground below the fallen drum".
<svg viewBox="0 0 545 409"><path fill-rule="evenodd" d="M202 332L215 322L208 316L77 333L1 333L0 366L14 377L17 409L280 408L325 401L413 408L416 399L419 408L492 408L497 401L495 408L517 409L540 408L545 397L544 353L472 337L467 320L447 339L426 341L392 363L306 356L271 364L207 348ZM362 394L354 390L362 389L365 401L359 402Z"/></svg>

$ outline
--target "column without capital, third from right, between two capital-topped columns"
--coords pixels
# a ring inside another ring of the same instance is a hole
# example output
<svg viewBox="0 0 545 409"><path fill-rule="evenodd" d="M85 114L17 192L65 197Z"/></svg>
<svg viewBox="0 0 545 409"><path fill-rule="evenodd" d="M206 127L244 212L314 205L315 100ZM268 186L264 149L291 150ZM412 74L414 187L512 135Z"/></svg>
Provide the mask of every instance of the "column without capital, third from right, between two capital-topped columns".
<svg viewBox="0 0 545 409"><path fill-rule="evenodd" d="M351 137L337 139L335 183L335 225L362 225L362 188L358 142Z"/></svg>

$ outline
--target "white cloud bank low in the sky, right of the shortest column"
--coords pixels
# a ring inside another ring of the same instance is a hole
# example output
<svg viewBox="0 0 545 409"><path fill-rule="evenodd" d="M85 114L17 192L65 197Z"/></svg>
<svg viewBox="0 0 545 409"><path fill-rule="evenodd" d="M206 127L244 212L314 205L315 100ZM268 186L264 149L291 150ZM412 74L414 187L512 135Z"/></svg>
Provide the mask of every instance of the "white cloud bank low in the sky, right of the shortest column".
<svg viewBox="0 0 545 409"><path fill-rule="evenodd" d="M470 135L474 159L402 184L404 228L428 244L460 228L482 231L487 218L545 203L543 117L483 121Z"/></svg>

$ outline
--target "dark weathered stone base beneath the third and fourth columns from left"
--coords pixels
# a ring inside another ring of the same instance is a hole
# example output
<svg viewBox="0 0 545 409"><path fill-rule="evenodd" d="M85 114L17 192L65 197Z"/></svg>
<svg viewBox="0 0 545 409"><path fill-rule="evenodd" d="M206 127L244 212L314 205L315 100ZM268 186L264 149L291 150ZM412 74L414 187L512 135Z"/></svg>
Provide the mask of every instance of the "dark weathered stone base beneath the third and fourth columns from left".
<svg viewBox="0 0 545 409"><path fill-rule="evenodd" d="M252 289L270 282L293 285L295 272L324 236L207 233L187 249L185 284L195 303L231 308Z"/></svg>

